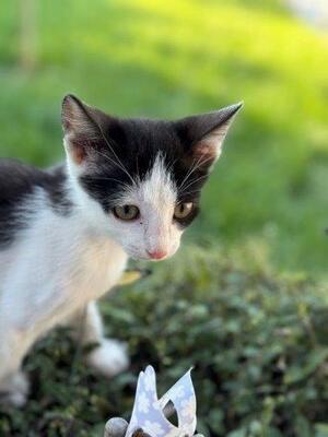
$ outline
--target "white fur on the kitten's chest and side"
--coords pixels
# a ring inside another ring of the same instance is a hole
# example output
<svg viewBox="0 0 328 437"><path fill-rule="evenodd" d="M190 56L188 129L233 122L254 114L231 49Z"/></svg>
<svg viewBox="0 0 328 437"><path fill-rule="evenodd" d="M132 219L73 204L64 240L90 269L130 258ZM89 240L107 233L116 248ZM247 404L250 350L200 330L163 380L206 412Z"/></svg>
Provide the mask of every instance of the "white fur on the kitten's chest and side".
<svg viewBox="0 0 328 437"><path fill-rule="evenodd" d="M105 294L126 262L121 247L85 227L78 213L42 210L0 252L0 316L37 336Z"/></svg>

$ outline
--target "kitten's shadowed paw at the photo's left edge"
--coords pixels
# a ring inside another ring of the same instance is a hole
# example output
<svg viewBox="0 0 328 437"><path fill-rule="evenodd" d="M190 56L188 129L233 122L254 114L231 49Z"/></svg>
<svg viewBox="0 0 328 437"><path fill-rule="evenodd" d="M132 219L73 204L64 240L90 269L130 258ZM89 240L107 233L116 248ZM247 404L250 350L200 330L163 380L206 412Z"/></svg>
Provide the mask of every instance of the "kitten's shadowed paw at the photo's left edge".
<svg viewBox="0 0 328 437"><path fill-rule="evenodd" d="M28 391L27 376L23 371L17 371L9 380L0 383L0 403L22 408L26 403Z"/></svg>

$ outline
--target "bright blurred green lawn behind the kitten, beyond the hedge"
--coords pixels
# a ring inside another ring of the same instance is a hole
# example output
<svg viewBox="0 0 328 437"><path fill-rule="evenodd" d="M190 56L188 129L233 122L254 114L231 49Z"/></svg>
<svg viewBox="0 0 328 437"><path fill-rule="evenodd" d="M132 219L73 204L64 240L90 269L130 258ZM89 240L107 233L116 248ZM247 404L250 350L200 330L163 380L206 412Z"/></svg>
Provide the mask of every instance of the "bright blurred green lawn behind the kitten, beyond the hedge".
<svg viewBox="0 0 328 437"><path fill-rule="evenodd" d="M265 239L283 270L326 272L328 37L274 0L38 4L38 67L23 72L17 5L0 16L0 154L62 157L60 101L179 117L245 101L191 240Z"/></svg>

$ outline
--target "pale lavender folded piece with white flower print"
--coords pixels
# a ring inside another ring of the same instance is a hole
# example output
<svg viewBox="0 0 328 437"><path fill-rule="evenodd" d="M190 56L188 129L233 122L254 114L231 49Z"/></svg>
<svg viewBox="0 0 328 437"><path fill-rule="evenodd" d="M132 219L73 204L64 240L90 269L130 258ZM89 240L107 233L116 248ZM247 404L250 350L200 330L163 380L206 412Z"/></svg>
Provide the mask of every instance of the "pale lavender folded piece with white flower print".
<svg viewBox="0 0 328 437"><path fill-rule="evenodd" d="M187 371L159 400L156 375L152 366L141 371L138 378L137 393L126 437L142 429L151 437L191 437L196 430L196 395L190 376ZM173 403L178 425L173 425L164 415L163 409Z"/></svg>

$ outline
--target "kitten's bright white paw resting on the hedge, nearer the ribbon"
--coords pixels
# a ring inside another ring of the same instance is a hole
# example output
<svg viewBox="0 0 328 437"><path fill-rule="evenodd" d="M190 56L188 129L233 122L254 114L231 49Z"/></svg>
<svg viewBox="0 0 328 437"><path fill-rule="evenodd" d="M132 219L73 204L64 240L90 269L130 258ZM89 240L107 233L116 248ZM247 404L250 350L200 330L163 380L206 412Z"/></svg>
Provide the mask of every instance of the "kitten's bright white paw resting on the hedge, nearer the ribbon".
<svg viewBox="0 0 328 437"><path fill-rule="evenodd" d="M104 339L98 347L87 355L87 363L99 374L112 378L129 367L126 343Z"/></svg>

